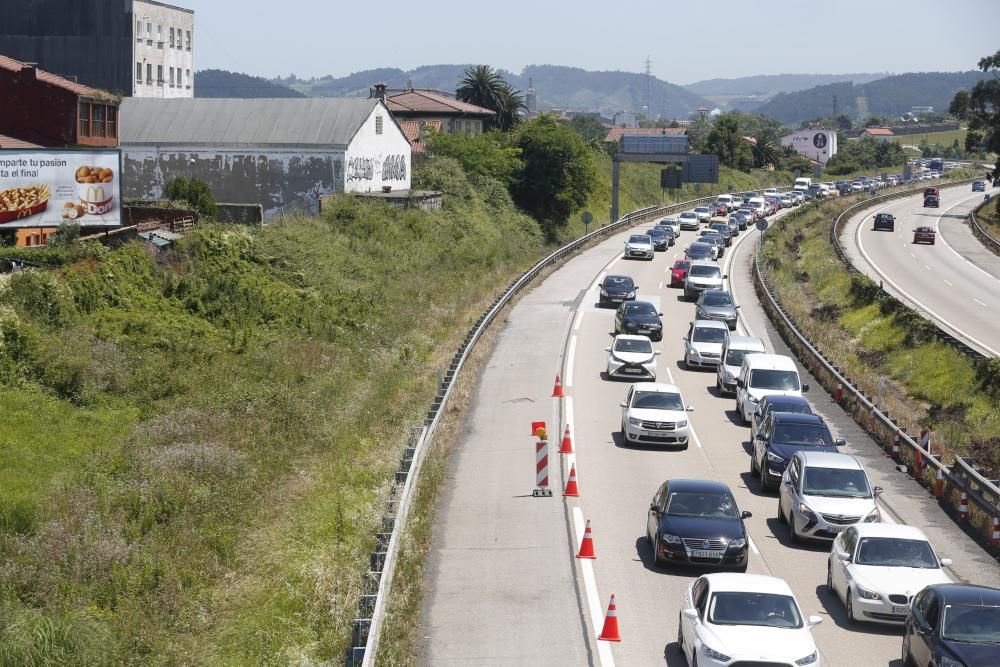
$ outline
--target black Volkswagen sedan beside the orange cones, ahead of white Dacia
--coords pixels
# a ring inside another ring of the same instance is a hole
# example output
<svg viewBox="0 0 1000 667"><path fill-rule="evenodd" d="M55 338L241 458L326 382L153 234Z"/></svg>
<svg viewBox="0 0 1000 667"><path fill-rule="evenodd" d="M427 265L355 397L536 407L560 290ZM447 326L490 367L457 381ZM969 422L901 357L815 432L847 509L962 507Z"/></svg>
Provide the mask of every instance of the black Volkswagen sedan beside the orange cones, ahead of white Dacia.
<svg viewBox="0 0 1000 667"><path fill-rule="evenodd" d="M746 572L746 528L729 487L722 482L672 479L653 496L646 540L656 565L695 565Z"/></svg>

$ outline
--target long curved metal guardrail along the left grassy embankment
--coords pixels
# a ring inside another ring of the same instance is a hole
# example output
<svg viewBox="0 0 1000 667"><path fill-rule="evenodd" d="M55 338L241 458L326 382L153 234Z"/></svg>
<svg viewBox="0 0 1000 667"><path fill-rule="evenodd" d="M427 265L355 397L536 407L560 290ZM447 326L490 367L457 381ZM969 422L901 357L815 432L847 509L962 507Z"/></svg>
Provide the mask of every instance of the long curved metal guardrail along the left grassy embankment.
<svg viewBox="0 0 1000 667"><path fill-rule="evenodd" d="M781 190L785 190L782 188ZM493 304L469 329L465 340L452 358L448 370L440 377L437 395L427 411L421 427L415 428L403 450L395 483L390 488L386 510L382 516L380 530L375 535L375 551L369 559L369 569L365 573L362 595L358 601L358 615L352 625L351 646L347 650L348 667L369 667L378 654L379 638L384 622L389 591L392 585L393 569L399 553L401 531L410 510L415 493L416 479L424 456L430 447L434 433L440 424L444 408L452 395L455 378L462 370L469 353L486 329L499 313L525 289L542 271L556 262L562 261L592 240L617 232L630 225L649 218L686 210L692 206L714 201L717 194L676 204L649 206L632 211L616 222L595 229L579 239L567 243L537 262L522 273L493 301Z"/></svg>

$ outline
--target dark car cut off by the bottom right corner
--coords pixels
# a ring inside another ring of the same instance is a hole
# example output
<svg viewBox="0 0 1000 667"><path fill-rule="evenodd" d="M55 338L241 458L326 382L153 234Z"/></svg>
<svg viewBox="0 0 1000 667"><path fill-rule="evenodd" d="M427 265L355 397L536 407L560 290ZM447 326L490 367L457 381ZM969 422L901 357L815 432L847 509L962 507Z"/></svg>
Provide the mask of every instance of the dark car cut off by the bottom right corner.
<svg viewBox="0 0 1000 667"><path fill-rule="evenodd" d="M1000 665L1000 590L934 584L917 593L903 626L903 665Z"/></svg>

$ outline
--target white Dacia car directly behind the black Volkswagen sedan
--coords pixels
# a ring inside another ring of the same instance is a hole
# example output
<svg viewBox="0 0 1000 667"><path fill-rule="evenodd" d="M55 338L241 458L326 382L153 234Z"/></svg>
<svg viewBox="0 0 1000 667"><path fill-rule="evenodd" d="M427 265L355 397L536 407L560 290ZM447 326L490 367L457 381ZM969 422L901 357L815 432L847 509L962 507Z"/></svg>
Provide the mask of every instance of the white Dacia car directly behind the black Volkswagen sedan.
<svg viewBox="0 0 1000 667"><path fill-rule="evenodd" d="M622 407L625 444L681 445L687 449L687 413L681 390L672 384L638 382L628 388Z"/></svg>

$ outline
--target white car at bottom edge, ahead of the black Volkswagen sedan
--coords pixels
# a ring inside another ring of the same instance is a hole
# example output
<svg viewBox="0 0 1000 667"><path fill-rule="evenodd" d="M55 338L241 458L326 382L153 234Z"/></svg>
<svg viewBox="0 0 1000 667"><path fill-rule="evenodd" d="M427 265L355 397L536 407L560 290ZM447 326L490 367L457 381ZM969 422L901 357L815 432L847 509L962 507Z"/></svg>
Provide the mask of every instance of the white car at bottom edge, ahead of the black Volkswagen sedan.
<svg viewBox="0 0 1000 667"><path fill-rule="evenodd" d="M677 645L689 665L818 667L812 628L783 579L719 572L695 579L684 593ZM746 661L746 662L744 662Z"/></svg>

